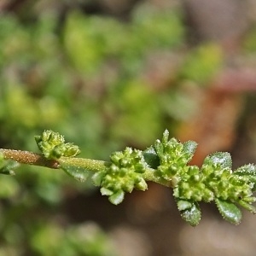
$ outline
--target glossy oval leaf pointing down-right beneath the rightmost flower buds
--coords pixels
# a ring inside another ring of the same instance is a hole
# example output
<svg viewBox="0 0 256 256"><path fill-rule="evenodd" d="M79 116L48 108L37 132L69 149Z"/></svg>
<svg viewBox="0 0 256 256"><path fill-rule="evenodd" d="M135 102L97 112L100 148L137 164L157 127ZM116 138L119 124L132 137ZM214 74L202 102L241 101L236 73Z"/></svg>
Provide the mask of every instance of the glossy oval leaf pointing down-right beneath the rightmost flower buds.
<svg viewBox="0 0 256 256"><path fill-rule="evenodd" d="M241 211L236 205L230 201L223 201L218 198L215 199L218 211L222 217L231 224L241 223Z"/></svg>

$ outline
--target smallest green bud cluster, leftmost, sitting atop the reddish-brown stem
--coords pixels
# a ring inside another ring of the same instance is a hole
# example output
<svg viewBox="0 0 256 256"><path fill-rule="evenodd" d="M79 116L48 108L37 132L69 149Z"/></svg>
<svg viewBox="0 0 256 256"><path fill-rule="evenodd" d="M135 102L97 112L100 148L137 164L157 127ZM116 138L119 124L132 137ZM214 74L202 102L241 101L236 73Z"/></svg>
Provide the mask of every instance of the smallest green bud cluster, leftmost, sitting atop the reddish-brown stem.
<svg viewBox="0 0 256 256"><path fill-rule="evenodd" d="M73 143L65 143L64 137L55 131L44 131L35 136L38 148L47 159L59 159L61 156L73 157L80 153L79 147Z"/></svg>

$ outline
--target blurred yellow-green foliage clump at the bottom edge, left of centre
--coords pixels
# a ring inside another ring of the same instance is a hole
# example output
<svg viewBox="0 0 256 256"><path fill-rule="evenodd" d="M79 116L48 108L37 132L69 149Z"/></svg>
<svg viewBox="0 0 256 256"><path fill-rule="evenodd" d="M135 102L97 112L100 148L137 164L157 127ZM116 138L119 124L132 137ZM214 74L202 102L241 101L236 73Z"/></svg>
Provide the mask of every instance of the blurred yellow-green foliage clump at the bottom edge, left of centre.
<svg viewBox="0 0 256 256"><path fill-rule="evenodd" d="M39 255L116 255L108 236L94 223L67 229L56 223L41 224L32 232L32 248Z"/></svg>

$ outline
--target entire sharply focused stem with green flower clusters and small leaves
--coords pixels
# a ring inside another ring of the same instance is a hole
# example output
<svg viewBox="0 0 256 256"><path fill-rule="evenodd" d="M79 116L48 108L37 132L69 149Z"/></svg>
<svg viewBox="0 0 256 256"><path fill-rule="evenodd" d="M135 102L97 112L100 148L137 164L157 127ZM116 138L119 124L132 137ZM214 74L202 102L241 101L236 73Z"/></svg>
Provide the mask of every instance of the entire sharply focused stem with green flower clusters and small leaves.
<svg viewBox="0 0 256 256"><path fill-rule="evenodd" d="M217 152L208 155L201 167L190 166L197 144L180 143L169 138L168 131L144 151L127 147L111 154L109 161L76 157L79 147L65 143L55 131L44 131L35 140L41 154L0 148L0 172L15 174L14 168L20 163L61 169L80 182L91 176L114 205L133 189L148 189L148 181L160 183L172 189L181 217L192 226L201 220L201 201L214 201L223 218L232 224L241 222L237 206L256 213L252 205L256 201L255 165L241 166L233 172L230 154Z"/></svg>

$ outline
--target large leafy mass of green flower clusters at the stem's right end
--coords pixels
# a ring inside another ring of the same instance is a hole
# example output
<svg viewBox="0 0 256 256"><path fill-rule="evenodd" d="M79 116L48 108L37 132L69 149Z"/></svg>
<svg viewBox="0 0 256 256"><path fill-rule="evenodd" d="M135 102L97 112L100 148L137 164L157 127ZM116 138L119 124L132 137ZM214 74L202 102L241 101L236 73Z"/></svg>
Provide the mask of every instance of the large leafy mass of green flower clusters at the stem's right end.
<svg viewBox="0 0 256 256"><path fill-rule="evenodd" d="M208 155L201 168L188 166L196 143L178 143L168 137L165 131L162 141L154 143L160 161L154 174L171 182L177 208L189 224L200 221L199 201L215 201L222 216L234 224L241 221L241 212L234 203L256 213L252 206L256 201L253 197L256 166L242 166L232 172L231 156L226 152Z"/></svg>

